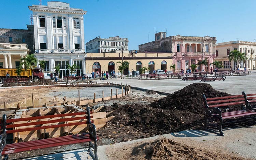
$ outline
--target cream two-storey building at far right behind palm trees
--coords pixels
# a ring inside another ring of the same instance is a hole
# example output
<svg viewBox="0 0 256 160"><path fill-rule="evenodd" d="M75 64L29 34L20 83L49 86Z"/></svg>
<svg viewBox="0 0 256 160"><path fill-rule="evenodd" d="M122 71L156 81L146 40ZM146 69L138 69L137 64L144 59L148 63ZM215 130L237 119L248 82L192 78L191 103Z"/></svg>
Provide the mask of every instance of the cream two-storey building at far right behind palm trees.
<svg viewBox="0 0 256 160"><path fill-rule="evenodd" d="M247 60L239 62L230 62L228 56L231 51L238 50L240 53L245 53ZM222 62L224 68L219 70L230 70L231 68L253 69L256 66L256 42L248 41L229 41L216 44L216 61Z"/></svg>

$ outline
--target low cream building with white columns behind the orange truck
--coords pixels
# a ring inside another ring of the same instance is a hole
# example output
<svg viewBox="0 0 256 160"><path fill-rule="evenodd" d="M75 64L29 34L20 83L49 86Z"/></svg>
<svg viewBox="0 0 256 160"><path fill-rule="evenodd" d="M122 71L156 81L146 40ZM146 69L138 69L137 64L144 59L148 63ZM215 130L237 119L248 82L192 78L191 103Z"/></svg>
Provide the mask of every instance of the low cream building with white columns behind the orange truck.
<svg viewBox="0 0 256 160"><path fill-rule="evenodd" d="M0 43L0 68L17 68L28 50L26 44Z"/></svg>

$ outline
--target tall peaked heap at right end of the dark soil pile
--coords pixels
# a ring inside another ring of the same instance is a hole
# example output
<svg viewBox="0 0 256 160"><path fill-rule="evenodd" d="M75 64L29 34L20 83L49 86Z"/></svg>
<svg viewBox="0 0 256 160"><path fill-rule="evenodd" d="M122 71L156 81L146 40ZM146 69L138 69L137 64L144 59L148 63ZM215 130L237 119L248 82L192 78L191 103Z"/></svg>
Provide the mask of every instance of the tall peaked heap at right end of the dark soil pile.
<svg viewBox="0 0 256 160"><path fill-rule="evenodd" d="M202 96L207 98L229 96L228 93L219 92L210 84L193 83L183 89L174 92L170 96L151 103L151 107L166 109L170 111L182 110L205 115Z"/></svg>

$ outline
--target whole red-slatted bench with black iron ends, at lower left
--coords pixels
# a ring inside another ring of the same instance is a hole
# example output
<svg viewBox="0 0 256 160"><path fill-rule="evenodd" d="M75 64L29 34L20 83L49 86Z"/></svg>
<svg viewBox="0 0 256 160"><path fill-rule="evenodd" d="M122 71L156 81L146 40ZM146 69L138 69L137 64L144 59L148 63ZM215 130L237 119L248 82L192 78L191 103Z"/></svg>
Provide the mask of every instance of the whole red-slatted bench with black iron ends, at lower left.
<svg viewBox="0 0 256 160"><path fill-rule="evenodd" d="M94 148L94 156L95 159L98 160L96 143L99 138L96 135L96 127L91 120L93 117L90 113L92 112L90 111L90 108L87 107L86 111L83 112L67 114L60 114L59 112L59 114L56 115L28 118L7 119L6 115L3 115L1 122L3 131L0 135L0 159L2 155L5 156L5 159L8 159L8 154L12 153L89 142L89 151L91 152L91 148ZM72 135L71 131L73 131L78 125L84 125L84 128L88 126L89 132ZM53 136L52 134L56 132L56 129L62 129L62 127L64 130L63 132L69 135L49 138ZM20 132L27 132L30 134L35 131L37 131L36 133L39 134L42 139L6 144L7 134L18 133L18 135L20 135ZM46 131L50 131L50 133L46 133ZM94 142L94 145L91 142Z"/></svg>

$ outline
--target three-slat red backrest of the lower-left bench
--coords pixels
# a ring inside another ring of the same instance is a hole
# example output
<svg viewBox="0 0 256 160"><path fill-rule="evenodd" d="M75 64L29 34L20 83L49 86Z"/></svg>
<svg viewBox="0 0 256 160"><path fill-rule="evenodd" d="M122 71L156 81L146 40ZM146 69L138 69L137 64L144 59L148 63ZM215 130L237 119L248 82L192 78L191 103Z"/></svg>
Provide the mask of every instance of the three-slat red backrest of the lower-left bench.
<svg viewBox="0 0 256 160"><path fill-rule="evenodd" d="M77 126L82 124L88 124L89 122L93 123L93 121L90 120L91 118L93 118L90 115L91 113L91 111L84 111L68 114L45 115L17 119L6 119L6 115L3 115L3 121L6 121L7 124L6 126L3 126L3 129L13 128L13 130L6 130L6 133L17 133L48 128ZM25 126L27 126L27 128ZM17 127L22 128L18 129Z"/></svg>

